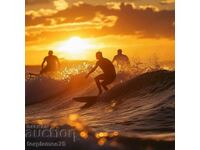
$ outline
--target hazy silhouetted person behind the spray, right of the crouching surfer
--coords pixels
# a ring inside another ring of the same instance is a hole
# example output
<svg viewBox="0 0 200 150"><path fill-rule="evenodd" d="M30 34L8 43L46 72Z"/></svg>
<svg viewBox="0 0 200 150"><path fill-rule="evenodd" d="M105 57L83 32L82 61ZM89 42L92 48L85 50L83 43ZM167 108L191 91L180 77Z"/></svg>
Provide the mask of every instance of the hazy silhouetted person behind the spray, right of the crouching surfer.
<svg viewBox="0 0 200 150"><path fill-rule="evenodd" d="M130 65L129 58L126 55L122 54L121 49L118 49L117 55L114 56L112 63L114 63L115 61L117 62L117 66L121 68L127 67Z"/></svg>

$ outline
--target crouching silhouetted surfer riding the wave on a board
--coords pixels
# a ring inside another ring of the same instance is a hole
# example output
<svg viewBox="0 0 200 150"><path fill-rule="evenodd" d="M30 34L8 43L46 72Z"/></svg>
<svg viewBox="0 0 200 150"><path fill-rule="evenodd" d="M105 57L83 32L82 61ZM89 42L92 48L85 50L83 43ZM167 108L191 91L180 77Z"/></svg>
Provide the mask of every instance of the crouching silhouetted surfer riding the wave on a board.
<svg viewBox="0 0 200 150"><path fill-rule="evenodd" d="M97 67L100 67L103 71L103 74L98 75L97 77L95 77L95 81L97 84L97 87L99 89L99 95L102 93L102 89L101 86L104 88L104 90L108 90L107 85L109 85L110 83L112 83L114 81L114 79L116 78L116 71L115 71L115 67L112 64L112 62L110 60L108 60L107 58L104 58L102 56L101 52L97 52L96 53L96 59L98 60L95 67L92 68L92 70L87 74L86 78L92 73L94 72Z"/></svg>

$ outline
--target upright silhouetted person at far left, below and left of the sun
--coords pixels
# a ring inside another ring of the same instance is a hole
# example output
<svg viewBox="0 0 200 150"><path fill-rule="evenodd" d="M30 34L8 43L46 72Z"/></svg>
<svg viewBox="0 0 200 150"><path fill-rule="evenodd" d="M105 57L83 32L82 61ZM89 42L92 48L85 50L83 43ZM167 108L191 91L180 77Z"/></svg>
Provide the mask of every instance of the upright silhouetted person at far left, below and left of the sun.
<svg viewBox="0 0 200 150"><path fill-rule="evenodd" d="M47 65L44 67L45 62ZM58 57L53 55L53 51L48 52L48 56L46 56L42 62L42 70L40 71L40 74L54 72L58 69L60 66L60 62L58 60Z"/></svg>

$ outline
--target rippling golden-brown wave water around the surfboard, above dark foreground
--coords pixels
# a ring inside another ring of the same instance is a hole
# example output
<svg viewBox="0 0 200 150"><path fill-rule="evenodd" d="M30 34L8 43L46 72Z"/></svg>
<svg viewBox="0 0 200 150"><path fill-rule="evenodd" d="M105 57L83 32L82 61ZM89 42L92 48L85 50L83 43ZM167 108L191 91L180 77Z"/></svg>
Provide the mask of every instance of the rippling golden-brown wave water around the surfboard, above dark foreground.
<svg viewBox="0 0 200 150"><path fill-rule="evenodd" d="M175 72L140 75L118 72L110 90L90 106L74 97L97 94L85 73L70 78L26 80L26 124L69 125L78 131L110 136L174 141Z"/></svg>

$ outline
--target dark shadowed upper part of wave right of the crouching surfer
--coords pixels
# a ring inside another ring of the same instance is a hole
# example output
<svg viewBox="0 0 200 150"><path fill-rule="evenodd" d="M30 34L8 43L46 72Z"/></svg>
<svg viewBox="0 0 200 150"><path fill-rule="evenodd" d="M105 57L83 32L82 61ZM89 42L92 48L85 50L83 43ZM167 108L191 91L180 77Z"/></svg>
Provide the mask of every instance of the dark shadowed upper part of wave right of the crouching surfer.
<svg viewBox="0 0 200 150"><path fill-rule="evenodd" d="M175 85L175 72L159 70L148 72L114 86L104 95L104 100L111 100L130 95L131 97L155 94Z"/></svg>

